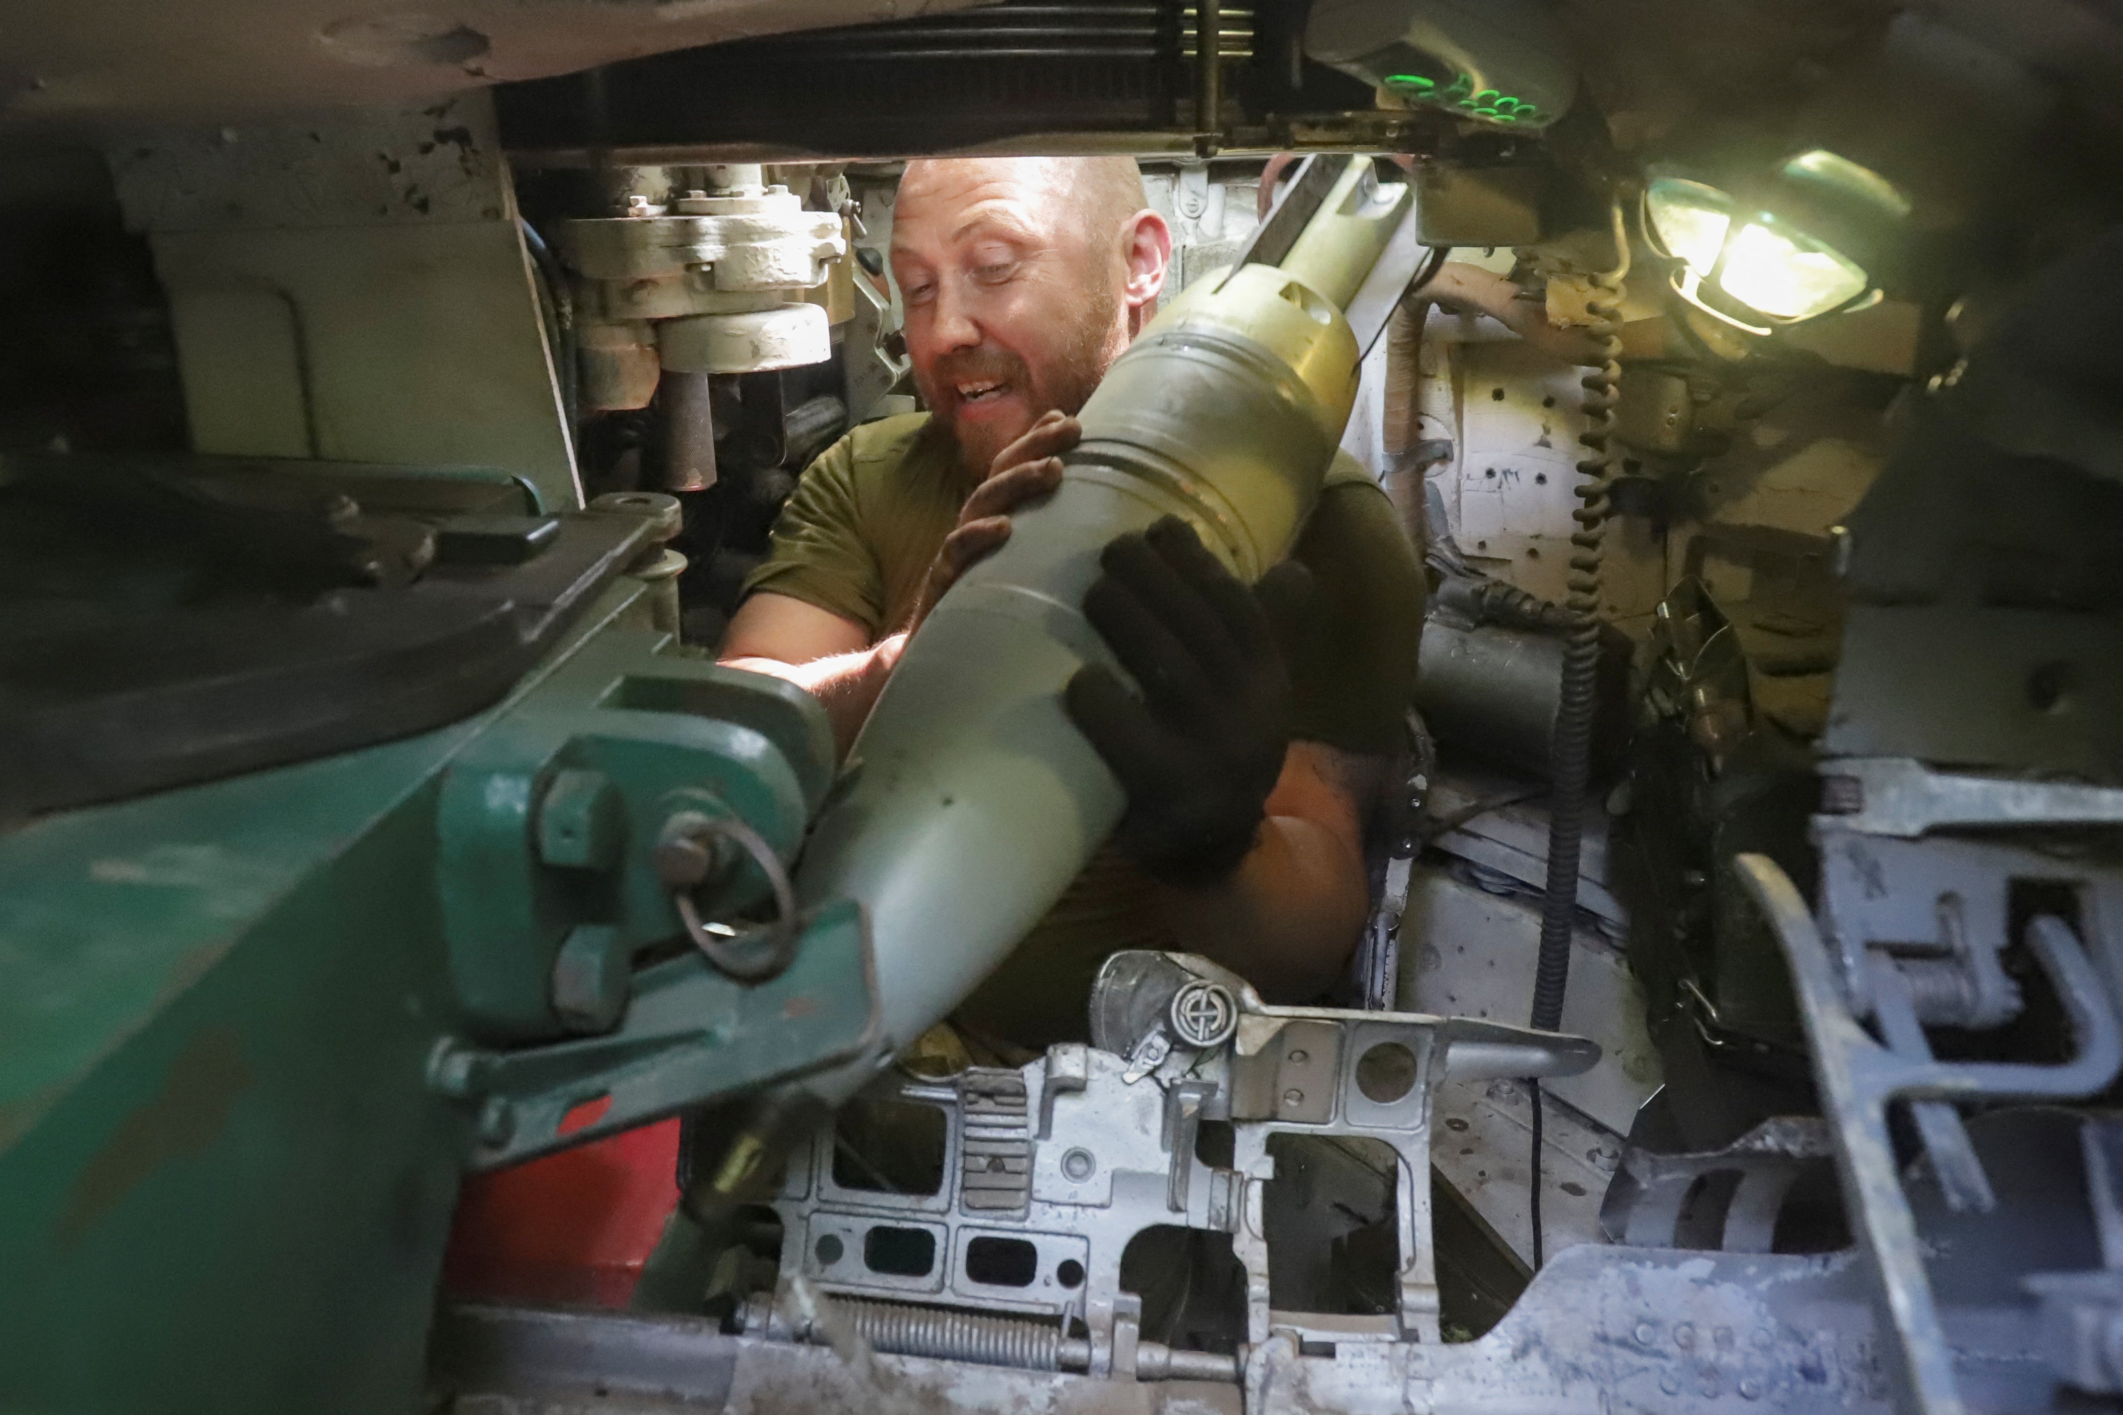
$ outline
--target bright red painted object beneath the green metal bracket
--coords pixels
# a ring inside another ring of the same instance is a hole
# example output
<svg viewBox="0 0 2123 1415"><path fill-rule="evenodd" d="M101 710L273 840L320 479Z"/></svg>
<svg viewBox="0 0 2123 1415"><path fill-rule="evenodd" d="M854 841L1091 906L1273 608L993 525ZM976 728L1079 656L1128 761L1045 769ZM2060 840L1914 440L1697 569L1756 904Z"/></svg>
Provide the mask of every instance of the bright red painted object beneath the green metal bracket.
<svg viewBox="0 0 2123 1415"><path fill-rule="evenodd" d="M597 1120L577 1107L563 1131ZM677 1209L677 1120L469 1175L442 1260L442 1290L510 1303L626 1307Z"/></svg>

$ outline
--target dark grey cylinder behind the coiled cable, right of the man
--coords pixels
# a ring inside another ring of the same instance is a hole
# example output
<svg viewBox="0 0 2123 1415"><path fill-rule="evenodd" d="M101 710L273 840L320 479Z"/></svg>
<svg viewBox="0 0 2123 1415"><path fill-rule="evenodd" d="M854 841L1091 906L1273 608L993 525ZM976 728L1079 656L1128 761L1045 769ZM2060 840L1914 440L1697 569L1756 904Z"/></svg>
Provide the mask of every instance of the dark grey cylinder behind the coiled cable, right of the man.
<svg viewBox="0 0 2123 1415"><path fill-rule="evenodd" d="M1416 711L1439 743L1546 779L1563 709L1563 649L1560 634L1497 624L1461 628L1433 615L1422 626ZM1605 774L1626 732L1626 643L1605 643L1592 730L1594 776Z"/></svg>

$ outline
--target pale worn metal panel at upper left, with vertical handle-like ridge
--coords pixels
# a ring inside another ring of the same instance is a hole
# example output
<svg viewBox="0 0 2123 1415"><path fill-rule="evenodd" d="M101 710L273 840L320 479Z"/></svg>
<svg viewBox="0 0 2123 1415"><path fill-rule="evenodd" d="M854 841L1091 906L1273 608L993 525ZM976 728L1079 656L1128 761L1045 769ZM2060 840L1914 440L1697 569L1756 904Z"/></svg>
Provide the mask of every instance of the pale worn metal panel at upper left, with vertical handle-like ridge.
<svg viewBox="0 0 2123 1415"><path fill-rule="evenodd" d="M501 467L582 505L493 102L108 149L195 452Z"/></svg>

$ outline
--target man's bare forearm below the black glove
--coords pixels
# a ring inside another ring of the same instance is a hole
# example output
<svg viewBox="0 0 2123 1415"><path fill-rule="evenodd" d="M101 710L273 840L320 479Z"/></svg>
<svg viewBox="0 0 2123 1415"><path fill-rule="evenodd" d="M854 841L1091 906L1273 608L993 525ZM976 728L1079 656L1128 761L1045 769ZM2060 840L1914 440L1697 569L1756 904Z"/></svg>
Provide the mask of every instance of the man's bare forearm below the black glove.
<svg viewBox="0 0 2123 1415"><path fill-rule="evenodd" d="M1244 976L1267 1001L1297 1003L1331 986L1369 912L1361 798L1371 770L1367 757L1291 743L1238 870L1214 885L1159 887L1180 946Z"/></svg>

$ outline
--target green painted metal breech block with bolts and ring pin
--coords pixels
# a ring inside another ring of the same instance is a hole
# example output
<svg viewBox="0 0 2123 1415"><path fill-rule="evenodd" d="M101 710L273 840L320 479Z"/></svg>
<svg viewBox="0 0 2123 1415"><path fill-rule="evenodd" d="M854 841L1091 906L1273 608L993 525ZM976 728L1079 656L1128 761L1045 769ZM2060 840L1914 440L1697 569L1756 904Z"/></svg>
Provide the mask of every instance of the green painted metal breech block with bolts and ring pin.
<svg viewBox="0 0 2123 1415"><path fill-rule="evenodd" d="M639 592L456 726L0 836L0 1409L414 1411L467 1165L870 1044L853 908L760 984L684 942L664 819L788 861L832 743Z"/></svg>

